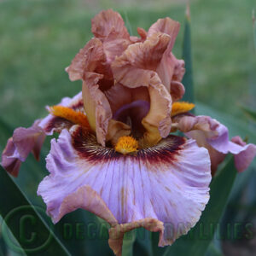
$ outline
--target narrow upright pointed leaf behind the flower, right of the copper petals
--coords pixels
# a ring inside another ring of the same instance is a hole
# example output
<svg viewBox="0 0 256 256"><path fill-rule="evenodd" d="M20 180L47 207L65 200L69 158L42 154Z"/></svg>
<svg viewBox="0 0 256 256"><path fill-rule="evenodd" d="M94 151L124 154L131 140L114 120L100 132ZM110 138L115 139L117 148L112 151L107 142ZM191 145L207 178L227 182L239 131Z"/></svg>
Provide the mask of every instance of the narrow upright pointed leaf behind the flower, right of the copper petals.
<svg viewBox="0 0 256 256"><path fill-rule="evenodd" d="M183 60L185 61L186 72L183 77L183 85L185 87L185 94L183 101L194 102L194 89L193 89L193 73L192 73L192 49L191 49L191 22L189 15L189 6L187 7L185 30L183 37Z"/></svg>

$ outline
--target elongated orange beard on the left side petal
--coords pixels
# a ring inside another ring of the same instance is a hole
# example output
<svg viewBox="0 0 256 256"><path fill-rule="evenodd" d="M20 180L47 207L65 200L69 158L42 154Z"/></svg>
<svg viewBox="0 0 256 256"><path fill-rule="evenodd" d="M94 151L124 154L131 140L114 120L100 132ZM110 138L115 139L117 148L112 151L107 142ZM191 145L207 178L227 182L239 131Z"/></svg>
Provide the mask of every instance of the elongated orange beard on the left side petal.
<svg viewBox="0 0 256 256"><path fill-rule="evenodd" d="M49 107L49 113L62 119L67 119L75 125L82 125L83 127L90 129L90 125L86 115L82 112L75 111L72 108L53 106Z"/></svg>

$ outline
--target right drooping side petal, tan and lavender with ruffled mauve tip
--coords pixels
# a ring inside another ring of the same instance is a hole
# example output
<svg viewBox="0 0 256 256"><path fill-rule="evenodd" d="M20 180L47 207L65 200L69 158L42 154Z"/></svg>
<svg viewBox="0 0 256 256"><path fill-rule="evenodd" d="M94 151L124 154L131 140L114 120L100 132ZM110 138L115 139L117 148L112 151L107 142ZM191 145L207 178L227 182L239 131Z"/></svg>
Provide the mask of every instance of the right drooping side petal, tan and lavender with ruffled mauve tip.
<svg viewBox="0 0 256 256"><path fill-rule="evenodd" d="M183 116L177 117L174 121L177 121L177 128L180 131L196 139L199 146L209 149L212 157L212 172L215 172L218 164L224 160L224 154L235 155L238 172L245 171L256 155L254 144L241 143L241 138L238 137L230 142L228 128L216 119L208 116Z"/></svg>

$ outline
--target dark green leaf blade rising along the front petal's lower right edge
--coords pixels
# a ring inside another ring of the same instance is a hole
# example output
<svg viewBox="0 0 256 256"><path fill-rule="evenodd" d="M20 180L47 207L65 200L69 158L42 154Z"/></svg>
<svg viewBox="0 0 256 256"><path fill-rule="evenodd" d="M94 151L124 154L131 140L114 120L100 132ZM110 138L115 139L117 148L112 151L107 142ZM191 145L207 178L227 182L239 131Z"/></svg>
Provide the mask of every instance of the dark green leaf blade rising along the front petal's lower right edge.
<svg viewBox="0 0 256 256"><path fill-rule="evenodd" d="M205 255L229 199L236 172L234 159L229 157L224 168L212 179L210 201L202 212L200 221L187 236L182 236L168 247L164 255Z"/></svg>

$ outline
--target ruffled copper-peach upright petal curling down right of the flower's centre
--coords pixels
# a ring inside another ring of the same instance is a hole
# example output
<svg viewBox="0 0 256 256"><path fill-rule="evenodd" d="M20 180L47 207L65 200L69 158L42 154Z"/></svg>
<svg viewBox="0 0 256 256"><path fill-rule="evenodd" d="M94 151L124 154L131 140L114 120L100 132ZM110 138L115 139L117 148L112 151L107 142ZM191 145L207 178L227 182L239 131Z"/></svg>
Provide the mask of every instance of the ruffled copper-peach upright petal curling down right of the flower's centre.
<svg viewBox="0 0 256 256"><path fill-rule="evenodd" d="M172 98L154 72L169 44L166 34L154 33L144 43L131 44L112 63L113 77L128 88L148 87L150 109L143 119L146 146L154 145L171 130Z"/></svg>

